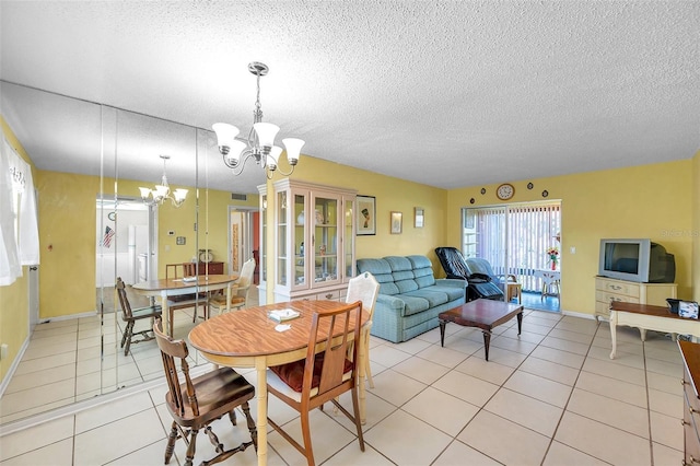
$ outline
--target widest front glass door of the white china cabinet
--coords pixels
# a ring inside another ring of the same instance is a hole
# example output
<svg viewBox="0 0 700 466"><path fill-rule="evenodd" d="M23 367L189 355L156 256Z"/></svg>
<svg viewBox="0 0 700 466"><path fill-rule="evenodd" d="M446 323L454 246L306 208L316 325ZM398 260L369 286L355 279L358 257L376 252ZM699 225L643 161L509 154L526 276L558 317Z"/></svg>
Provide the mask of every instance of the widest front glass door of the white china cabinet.
<svg viewBox="0 0 700 466"><path fill-rule="evenodd" d="M337 282L338 278L338 238L339 201L337 197L314 197L314 282Z"/></svg>

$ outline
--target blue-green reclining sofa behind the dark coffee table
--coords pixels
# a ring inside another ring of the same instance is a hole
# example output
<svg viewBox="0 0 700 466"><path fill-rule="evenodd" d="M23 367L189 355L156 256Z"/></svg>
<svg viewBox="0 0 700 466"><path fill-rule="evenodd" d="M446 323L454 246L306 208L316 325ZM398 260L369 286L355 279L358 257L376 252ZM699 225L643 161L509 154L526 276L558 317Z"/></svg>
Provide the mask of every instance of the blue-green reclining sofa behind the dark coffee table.
<svg viewBox="0 0 700 466"><path fill-rule="evenodd" d="M380 282L371 334L407 341L438 327L438 314L465 303L465 280L435 279L425 256L358 259L358 272Z"/></svg>

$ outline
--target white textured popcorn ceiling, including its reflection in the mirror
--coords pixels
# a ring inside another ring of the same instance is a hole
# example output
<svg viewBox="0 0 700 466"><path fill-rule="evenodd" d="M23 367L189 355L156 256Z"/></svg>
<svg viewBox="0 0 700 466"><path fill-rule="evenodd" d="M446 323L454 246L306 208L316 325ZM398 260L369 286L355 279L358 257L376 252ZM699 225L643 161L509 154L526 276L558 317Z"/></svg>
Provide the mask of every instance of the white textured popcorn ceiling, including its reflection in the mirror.
<svg viewBox="0 0 700 466"><path fill-rule="evenodd" d="M0 16L0 110L45 170L95 170L101 110L8 82L246 132L254 60L264 119L304 154L443 188L700 148L698 1L2 1ZM232 177L207 131L113 114L121 177L158 179L167 151L186 183L196 144L209 186L262 180Z"/></svg>

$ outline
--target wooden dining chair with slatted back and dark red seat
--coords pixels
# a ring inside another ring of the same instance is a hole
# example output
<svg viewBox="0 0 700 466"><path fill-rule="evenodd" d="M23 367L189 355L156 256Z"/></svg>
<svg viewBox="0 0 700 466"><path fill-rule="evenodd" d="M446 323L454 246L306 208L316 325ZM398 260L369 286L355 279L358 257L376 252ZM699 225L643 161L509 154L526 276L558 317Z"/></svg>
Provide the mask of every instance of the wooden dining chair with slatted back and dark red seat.
<svg viewBox="0 0 700 466"><path fill-rule="evenodd" d="M306 457L310 466L314 465L314 451L308 413L314 408L323 407L326 401L331 401L355 424L360 450L364 452L358 403L358 364L354 362L358 361L358 345L352 345L353 340L360 340L361 326L357 324L361 317L360 301L336 311L314 312L306 359L268 369L268 391L300 413L304 446L269 417L268 422ZM316 354L318 343L325 349ZM352 354L352 359L348 358L348 352ZM346 392L352 394L354 415L336 399Z"/></svg>

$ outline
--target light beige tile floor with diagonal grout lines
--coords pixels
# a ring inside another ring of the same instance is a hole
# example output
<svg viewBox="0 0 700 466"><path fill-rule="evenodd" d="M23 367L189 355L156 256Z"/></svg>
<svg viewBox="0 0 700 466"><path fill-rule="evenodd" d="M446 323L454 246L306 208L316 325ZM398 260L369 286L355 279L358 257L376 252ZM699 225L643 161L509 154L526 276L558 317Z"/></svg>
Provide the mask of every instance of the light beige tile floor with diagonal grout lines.
<svg viewBox="0 0 700 466"><path fill-rule="evenodd" d="M78 324L70 334L81 330ZM448 324L446 333L445 348L439 329L399 345L372 338L375 387L368 393L366 450L360 452L342 415L317 410L317 464L681 464L682 363L667 336L649 333L642 342L638 330L619 328L618 358L610 360L606 323L526 311L520 337L515 319L495 329L487 362L479 331ZM67 343L60 335L50 346ZM133 364L141 368L149 359L135 357ZM79 362L61 361L77 372ZM50 371L56 364L38 372L57 377ZM145 373L156 373L156 365ZM255 381L252 372L240 372ZM16 387L14 393L30 392L37 384L24 380ZM0 438L0 464L162 464L171 424L163 396L158 386L7 434ZM348 396L341 400L350 406ZM270 416L301 440L295 413L273 397L269 403ZM232 428L223 419L214 430L232 445L245 439L243 424ZM276 432L268 440L270 465L305 464ZM184 452L179 441L171 464L182 464ZM195 463L211 456L213 447L200 435ZM226 464L256 464L255 452L248 448Z"/></svg>

